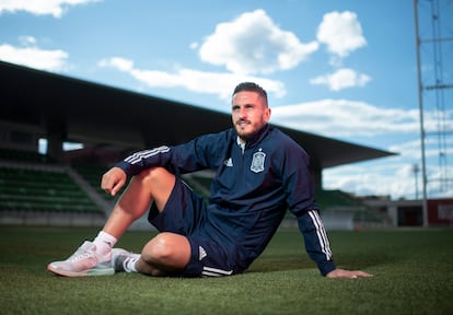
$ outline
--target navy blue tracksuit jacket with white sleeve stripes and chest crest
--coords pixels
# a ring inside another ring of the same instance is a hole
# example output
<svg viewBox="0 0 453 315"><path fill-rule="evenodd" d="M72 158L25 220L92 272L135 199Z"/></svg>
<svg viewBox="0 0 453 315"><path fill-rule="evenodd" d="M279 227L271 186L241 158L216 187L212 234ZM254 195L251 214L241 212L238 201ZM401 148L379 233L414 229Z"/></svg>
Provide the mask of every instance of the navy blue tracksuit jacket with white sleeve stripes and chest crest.
<svg viewBox="0 0 453 315"><path fill-rule="evenodd" d="M219 242L241 248L244 267L263 253L289 209L321 273L336 268L315 203L309 156L275 127L266 125L244 148L231 128L184 144L137 152L117 166L128 176L153 166L176 176L214 170L209 220L218 228Z"/></svg>

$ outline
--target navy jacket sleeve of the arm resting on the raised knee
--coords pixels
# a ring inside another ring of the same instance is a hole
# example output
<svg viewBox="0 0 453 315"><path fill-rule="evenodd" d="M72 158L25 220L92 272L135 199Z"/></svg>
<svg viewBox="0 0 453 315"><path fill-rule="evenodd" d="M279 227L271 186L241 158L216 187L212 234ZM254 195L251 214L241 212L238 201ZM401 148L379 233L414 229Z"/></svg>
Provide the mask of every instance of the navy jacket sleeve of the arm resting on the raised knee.
<svg viewBox="0 0 453 315"><path fill-rule="evenodd" d="M136 152L116 166L123 168L128 176L133 176L143 170L162 166L175 175L214 167L221 152L219 144L223 141L220 133L198 137L187 143L175 147L158 147Z"/></svg>

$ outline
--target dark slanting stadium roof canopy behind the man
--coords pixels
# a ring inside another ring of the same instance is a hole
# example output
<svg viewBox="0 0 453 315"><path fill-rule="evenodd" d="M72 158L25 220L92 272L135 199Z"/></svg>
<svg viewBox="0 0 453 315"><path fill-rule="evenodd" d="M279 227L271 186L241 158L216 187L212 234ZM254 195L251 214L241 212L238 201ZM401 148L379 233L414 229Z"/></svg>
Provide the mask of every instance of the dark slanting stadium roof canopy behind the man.
<svg viewBox="0 0 453 315"><path fill-rule="evenodd" d="M31 126L47 138L57 133L65 141L137 150L231 127L229 114L1 61L0 82L0 124ZM318 170L394 154L277 127Z"/></svg>

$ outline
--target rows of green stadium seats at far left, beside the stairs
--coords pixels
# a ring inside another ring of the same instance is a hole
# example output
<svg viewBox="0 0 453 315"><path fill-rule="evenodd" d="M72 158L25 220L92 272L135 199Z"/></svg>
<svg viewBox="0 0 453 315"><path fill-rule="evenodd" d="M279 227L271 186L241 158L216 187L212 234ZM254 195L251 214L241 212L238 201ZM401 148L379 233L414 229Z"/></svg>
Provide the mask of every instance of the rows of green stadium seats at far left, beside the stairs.
<svg viewBox="0 0 453 315"><path fill-rule="evenodd" d="M67 166L38 153L0 149L1 223L94 224L104 218Z"/></svg>

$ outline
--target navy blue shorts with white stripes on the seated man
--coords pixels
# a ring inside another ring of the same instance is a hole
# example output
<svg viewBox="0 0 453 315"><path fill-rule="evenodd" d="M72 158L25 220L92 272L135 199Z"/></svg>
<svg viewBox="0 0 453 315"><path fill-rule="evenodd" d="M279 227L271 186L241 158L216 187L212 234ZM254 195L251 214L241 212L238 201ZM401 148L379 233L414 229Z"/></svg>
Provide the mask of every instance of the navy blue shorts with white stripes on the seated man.
<svg viewBox="0 0 453 315"><path fill-rule="evenodd" d="M235 264L239 253L234 246L231 248L212 237L218 232L206 220L207 211L205 200L179 178L162 212L154 203L151 206L148 220L159 232L184 235L190 243L187 267L173 276L221 277L243 271Z"/></svg>

